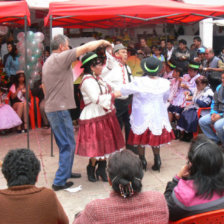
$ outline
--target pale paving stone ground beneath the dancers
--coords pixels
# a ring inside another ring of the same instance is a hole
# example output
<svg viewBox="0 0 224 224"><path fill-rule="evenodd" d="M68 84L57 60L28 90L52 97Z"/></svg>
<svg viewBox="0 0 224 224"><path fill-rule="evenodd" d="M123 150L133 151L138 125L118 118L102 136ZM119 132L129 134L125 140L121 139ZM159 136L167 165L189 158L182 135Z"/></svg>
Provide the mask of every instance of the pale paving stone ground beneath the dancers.
<svg viewBox="0 0 224 224"><path fill-rule="evenodd" d="M55 171L58 167L58 148L54 142L54 156L51 157L50 129L34 129L30 131L30 148L35 152L41 161L41 172L37 186L51 188ZM0 136L0 160L4 158L8 150L27 147L27 135L10 133ZM160 172L152 171L153 155L150 148L146 149L148 167L144 173L143 191L154 190L164 192L166 183L181 169L186 162L186 155L189 143L174 140L170 144L161 147L162 167ZM74 186L82 185L82 190L76 193L67 191L56 192L70 223L74 219L74 214L82 210L85 205L93 199L105 198L109 195L111 187L108 183L98 181L91 183L87 180L86 165L88 158L75 156L73 172L80 172L82 178L72 179ZM0 172L0 188L6 188L6 181Z"/></svg>

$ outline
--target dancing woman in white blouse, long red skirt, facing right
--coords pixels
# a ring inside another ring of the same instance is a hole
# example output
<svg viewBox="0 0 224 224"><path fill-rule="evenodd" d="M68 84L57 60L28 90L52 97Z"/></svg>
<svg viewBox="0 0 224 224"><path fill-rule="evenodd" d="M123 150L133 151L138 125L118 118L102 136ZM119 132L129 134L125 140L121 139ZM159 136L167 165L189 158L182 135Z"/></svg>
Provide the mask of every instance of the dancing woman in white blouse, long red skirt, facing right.
<svg viewBox="0 0 224 224"><path fill-rule="evenodd" d="M79 120L76 154L90 157L87 166L89 181L95 182L99 176L107 181L106 158L124 147L124 138L113 105L115 95L111 87L100 78L103 61L96 53L86 54L82 58L82 67L84 76L80 90L85 107Z"/></svg>

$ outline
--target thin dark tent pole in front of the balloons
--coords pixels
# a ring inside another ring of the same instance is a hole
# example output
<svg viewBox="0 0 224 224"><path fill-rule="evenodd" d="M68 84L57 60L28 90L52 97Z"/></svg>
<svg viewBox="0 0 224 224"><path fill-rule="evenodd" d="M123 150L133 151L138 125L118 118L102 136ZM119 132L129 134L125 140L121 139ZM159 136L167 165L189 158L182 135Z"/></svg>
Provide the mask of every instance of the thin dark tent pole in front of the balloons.
<svg viewBox="0 0 224 224"><path fill-rule="evenodd" d="M25 78L26 78L26 119L27 119L27 148L30 149L30 133L29 133L29 74L27 72L27 16L24 16L25 31Z"/></svg>

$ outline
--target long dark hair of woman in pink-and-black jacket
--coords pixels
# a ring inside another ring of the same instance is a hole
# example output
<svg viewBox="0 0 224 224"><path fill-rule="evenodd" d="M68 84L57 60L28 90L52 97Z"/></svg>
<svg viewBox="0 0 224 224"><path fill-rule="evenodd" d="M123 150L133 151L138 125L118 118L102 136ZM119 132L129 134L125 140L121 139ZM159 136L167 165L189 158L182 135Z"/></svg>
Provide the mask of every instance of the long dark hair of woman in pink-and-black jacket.
<svg viewBox="0 0 224 224"><path fill-rule="evenodd" d="M211 198L214 193L224 193L224 159L221 148L205 135L193 140L188 152L191 163L190 177L196 195Z"/></svg>

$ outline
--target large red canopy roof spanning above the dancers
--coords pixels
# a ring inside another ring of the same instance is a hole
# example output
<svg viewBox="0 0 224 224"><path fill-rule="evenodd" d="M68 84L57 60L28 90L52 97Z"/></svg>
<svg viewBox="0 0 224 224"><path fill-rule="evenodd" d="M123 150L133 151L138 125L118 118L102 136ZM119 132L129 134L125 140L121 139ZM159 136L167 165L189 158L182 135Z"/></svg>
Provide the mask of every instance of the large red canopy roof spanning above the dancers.
<svg viewBox="0 0 224 224"><path fill-rule="evenodd" d="M49 6L45 25L65 28L134 27L148 23L192 23L219 17L224 6L205 7L171 0L75 0Z"/></svg>

